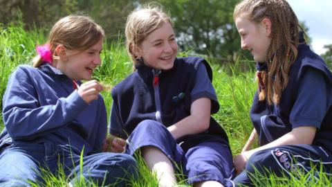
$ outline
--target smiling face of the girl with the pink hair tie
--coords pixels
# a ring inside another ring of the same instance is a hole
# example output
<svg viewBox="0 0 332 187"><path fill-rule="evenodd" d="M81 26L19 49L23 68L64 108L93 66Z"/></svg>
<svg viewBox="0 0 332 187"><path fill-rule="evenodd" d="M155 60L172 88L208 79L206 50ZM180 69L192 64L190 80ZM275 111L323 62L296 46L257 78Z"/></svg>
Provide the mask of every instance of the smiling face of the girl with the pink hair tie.
<svg viewBox="0 0 332 187"><path fill-rule="evenodd" d="M102 39L84 51L64 51L66 60L59 60L56 68L72 80L91 80L93 70L101 63Z"/></svg>

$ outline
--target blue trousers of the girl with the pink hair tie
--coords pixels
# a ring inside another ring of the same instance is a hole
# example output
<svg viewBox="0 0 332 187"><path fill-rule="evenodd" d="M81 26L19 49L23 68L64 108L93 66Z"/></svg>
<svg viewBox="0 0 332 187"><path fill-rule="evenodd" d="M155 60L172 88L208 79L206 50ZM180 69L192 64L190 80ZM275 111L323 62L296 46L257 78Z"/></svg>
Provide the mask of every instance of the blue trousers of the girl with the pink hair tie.
<svg viewBox="0 0 332 187"><path fill-rule="evenodd" d="M75 186L84 177L89 184L124 186L135 177L136 161L128 154L102 152L83 157L72 147L50 143L15 143L0 154L0 186L30 186L28 181L43 183L43 169L55 174L63 170ZM42 169L43 168L43 169Z"/></svg>

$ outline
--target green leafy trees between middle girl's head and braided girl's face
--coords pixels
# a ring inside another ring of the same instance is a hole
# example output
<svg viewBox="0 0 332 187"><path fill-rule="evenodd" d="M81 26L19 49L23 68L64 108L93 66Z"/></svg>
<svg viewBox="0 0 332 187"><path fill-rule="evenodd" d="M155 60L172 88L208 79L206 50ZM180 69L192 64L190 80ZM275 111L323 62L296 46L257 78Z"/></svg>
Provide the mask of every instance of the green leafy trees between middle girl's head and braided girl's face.
<svg viewBox="0 0 332 187"><path fill-rule="evenodd" d="M174 20L178 46L224 60L241 53L233 10L239 0L160 0Z"/></svg>

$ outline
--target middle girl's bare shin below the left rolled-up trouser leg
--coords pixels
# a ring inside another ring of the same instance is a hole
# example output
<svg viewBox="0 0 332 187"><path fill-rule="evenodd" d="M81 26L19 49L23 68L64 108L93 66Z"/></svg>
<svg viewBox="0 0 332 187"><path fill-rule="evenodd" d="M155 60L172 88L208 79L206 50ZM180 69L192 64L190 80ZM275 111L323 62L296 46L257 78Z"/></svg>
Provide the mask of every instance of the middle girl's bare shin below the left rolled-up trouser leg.
<svg viewBox="0 0 332 187"><path fill-rule="evenodd" d="M157 175L159 187L176 186L174 168L168 157L158 148L147 146L141 149L147 167Z"/></svg>

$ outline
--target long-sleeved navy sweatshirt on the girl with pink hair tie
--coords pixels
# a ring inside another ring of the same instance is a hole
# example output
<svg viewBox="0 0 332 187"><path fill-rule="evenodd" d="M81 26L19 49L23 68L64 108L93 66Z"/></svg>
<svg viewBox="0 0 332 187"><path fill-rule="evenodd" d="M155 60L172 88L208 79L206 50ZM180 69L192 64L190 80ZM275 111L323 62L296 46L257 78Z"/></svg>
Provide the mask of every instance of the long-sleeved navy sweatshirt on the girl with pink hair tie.
<svg viewBox="0 0 332 187"><path fill-rule="evenodd" d="M18 66L3 96L0 143L18 141L71 145L89 154L102 148L107 112L102 96L89 105L64 73L44 64Z"/></svg>

